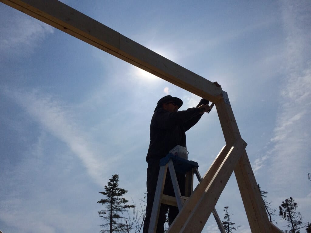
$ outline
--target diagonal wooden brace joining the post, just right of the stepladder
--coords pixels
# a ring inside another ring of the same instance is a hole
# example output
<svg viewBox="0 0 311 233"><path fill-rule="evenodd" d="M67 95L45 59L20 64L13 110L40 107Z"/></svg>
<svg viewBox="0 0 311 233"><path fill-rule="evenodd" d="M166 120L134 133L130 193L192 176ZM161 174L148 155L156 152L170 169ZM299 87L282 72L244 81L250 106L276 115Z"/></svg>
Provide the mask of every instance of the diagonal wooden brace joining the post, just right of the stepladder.
<svg viewBox="0 0 311 233"><path fill-rule="evenodd" d="M207 172L202 182L193 191L188 202L185 203L184 208L169 227L167 233L199 233L202 231L239 158L245 151L245 147L246 143L242 138L239 138L226 154L218 169L213 171L213 173ZM223 148L217 158L224 155L225 148ZM219 162L217 158L216 161ZM211 168L215 169L216 166L213 167L213 164ZM210 177L211 175L212 178ZM203 193L201 193L202 190ZM195 194L197 192L199 194Z"/></svg>

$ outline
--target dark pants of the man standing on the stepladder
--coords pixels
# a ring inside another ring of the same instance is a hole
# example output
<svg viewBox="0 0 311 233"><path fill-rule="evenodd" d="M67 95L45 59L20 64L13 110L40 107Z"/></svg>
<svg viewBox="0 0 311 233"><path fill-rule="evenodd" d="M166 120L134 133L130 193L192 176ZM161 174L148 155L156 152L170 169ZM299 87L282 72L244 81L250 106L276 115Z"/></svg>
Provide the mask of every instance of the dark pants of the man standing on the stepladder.
<svg viewBox="0 0 311 233"><path fill-rule="evenodd" d="M144 221L144 228L143 233L148 232L150 217L151 217L151 210L153 205L153 200L156 193L156 185L158 181L159 171L160 171L160 160L158 159L149 159L148 161L148 168L147 168L147 207L146 207L146 218ZM181 195L185 193L185 174L176 173L179 189ZM172 185L172 180L167 171L165 185L164 185L164 194L175 196L174 189ZM169 206L166 204L161 204L158 225L156 233L163 233L164 232L164 223L165 223L165 214L169 210L169 225L174 221L175 217L178 214L178 207Z"/></svg>

